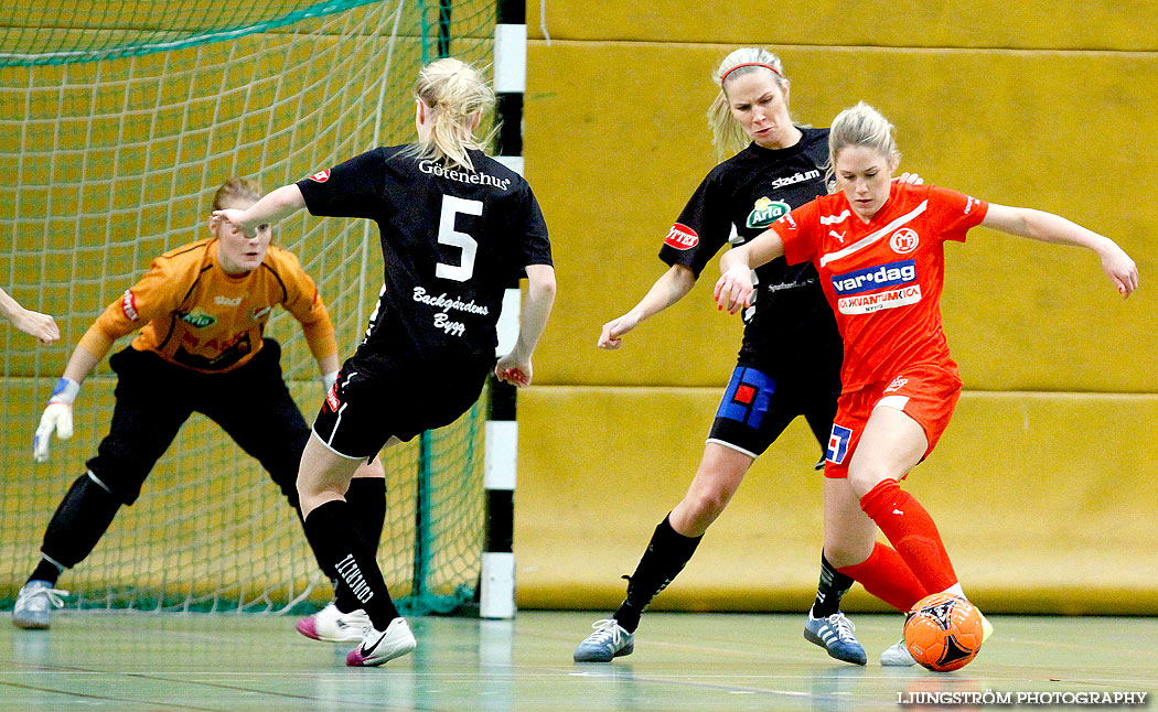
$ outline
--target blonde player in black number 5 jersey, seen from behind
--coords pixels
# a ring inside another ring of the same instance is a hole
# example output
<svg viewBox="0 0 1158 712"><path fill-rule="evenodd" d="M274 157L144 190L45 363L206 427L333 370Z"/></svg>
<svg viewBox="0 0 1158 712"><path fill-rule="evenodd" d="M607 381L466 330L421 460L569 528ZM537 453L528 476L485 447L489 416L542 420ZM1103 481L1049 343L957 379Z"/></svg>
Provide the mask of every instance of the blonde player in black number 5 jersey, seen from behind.
<svg viewBox="0 0 1158 712"><path fill-rule="evenodd" d="M447 425L478 398L486 375L532 381L530 357L555 300L547 226L530 186L475 137L494 94L457 59L426 66L416 85L418 142L376 148L279 188L245 211L217 214L251 230L309 208L368 218L382 237L384 285L366 337L342 367L302 454L306 531L371 625L346 665L376 666L415 648L373 553L349 521L345 486L384 446ZM514 350L494 360L507 284L528 289Z"/></svg>

